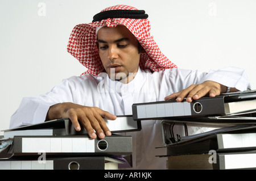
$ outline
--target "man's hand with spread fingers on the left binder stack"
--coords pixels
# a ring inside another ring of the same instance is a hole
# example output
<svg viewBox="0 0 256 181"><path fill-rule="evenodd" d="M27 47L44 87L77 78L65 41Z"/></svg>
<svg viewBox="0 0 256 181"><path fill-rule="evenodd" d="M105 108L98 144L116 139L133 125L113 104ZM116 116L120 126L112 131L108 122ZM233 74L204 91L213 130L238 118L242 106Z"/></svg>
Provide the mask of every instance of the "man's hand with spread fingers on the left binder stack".
<svg viewBox="0 0 256 181"><path fill-rule="evenodd" d="M49 108L46 120L69 118L76 131L81 130L80 121L91 138L96 138L98 135L102 139L105 135L110 136L112 134L106 126L103 117L109 120L117 119L117 116L103 111L98 107L81 106L74 103L59 103Z"/></svg>

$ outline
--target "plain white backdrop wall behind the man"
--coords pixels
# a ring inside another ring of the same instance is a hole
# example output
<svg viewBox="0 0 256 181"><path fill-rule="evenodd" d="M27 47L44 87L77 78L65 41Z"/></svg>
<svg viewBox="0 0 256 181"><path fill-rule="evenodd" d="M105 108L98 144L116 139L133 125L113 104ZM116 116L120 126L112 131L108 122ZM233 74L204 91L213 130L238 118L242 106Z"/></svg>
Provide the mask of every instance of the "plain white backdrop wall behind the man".
<svg viewBox="0 0 256 181"><path fill-rule="evenodd" d="M255 0L0 0L0 130L9 128L24 96L44 94L86 70L67 53L69 35L118 4L146 11L151 35L179 68L237 66L255 89Z"/></svg>

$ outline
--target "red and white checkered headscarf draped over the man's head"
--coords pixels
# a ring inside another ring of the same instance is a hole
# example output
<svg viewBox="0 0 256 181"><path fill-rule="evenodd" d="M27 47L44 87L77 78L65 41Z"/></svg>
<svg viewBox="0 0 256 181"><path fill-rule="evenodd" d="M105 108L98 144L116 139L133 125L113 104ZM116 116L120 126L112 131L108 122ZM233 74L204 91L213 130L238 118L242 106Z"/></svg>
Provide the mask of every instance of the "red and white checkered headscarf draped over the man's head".
<svg viewBox="0 0 256 181"><path fill-rule="evenodd" d="M101 12L109 10L138 9L127 5L116 5L108 7ZM164 56L152 36L150 36L151 26L148 19L108 18L93 23L78 24L71 32L67 50L72 56L77 58L82 65L88 68L85 73L98 75L104 71L97 48L96 28L105 24L108 27L124 25L138 39L139 43L146 51L146 53L141 55L139 62L139 66L142 70L151 69L152 71L160 71L176 68L176 65Z"/></svg>

